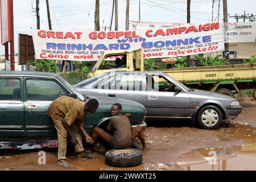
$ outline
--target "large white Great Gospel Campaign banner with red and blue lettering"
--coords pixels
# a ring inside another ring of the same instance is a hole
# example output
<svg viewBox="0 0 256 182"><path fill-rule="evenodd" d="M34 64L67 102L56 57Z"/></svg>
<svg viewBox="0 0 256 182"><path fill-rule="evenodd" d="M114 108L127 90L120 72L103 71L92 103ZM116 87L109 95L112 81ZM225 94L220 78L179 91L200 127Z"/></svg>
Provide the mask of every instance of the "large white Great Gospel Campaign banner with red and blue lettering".
<svg viewBox="0 0 256 182"><path fill-rule="evenodd" d="M223 22L131 31L32 30L36 59L98 60L105 51L143 48L144 58L224 50Z"/></svg>

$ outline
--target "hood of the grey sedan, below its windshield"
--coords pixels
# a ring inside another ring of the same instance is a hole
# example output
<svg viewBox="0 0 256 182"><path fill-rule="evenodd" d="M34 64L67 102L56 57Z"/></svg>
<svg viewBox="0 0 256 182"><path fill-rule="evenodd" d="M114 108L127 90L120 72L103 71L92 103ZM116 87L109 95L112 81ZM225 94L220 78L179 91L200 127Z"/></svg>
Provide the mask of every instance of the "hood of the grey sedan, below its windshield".
<svg viewBox="0 0 256 182"><path fill-rule="evenodd" d="M230 97L230 96L226 96L224 94L218 94L215 92L209 92L209 91L205 91L205 90L197 90L197 89L193 89L190 90L188 92L189 95L194 95L194 96L200 96L200 97L207 97L207 98L217 98L220 100L230 100L230 101L237 101L236 98Z"/></svg>

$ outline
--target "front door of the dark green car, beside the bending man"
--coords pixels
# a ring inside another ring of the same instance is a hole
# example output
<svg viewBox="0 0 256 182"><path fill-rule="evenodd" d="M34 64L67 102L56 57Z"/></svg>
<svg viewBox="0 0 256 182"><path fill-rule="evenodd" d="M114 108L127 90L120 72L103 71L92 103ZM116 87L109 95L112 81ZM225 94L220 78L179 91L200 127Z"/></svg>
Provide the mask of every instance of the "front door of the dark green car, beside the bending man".
<svg viewBox="0 0 256 182"><path fill-rule="evenodd" d="M26 137L56 136L55 127L46 111L53 100L61 95L67 95L68 91L53 78L27 77L24 79L24 85Z"/></svg>

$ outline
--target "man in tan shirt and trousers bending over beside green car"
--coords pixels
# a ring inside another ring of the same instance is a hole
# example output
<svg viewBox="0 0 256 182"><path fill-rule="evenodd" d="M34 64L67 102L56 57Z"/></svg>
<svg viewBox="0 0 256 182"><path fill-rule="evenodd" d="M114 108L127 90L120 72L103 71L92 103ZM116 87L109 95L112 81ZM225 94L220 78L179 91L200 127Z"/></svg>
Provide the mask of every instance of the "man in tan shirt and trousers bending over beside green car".
<svg viewBox="0 0 256 182"><path fill-rule="evenodd" d="M84 135L87 143L92 143L92 138L84 129L84 119L86 113L94 113L98 109L98 101L91 99L88 102L82 102L75 98L61 96L54 100L47 110L51 117L58 138L58 157L57 164L66 168L75 167L66 161L67 137L73 146L75 146L76 156L79 158L93 158L94 156L85 152L82 145L82 136Z"/></svg>

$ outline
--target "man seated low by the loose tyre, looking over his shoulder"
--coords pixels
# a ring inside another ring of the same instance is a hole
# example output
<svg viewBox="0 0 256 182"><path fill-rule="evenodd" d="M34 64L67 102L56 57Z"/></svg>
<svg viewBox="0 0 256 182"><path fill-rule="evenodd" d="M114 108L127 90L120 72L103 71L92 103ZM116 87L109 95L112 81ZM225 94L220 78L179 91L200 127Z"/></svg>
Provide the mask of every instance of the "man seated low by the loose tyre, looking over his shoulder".
<svg viewBox="0 0 256 182"><path fill-rule="evenodd" d="M93 143L95 144L98 137L102 138L106 143L108 143L113 148L123 149L131 147L135 138L139 138L142 143L142 150L150 149L150 145L145 143L145 137L141 126L131 127L129 119L122 115L122 105L113 104L111 107L112 117L108 125L108 130L113 135L106 133L99 127L94 127L91 137Z"/></svg>

